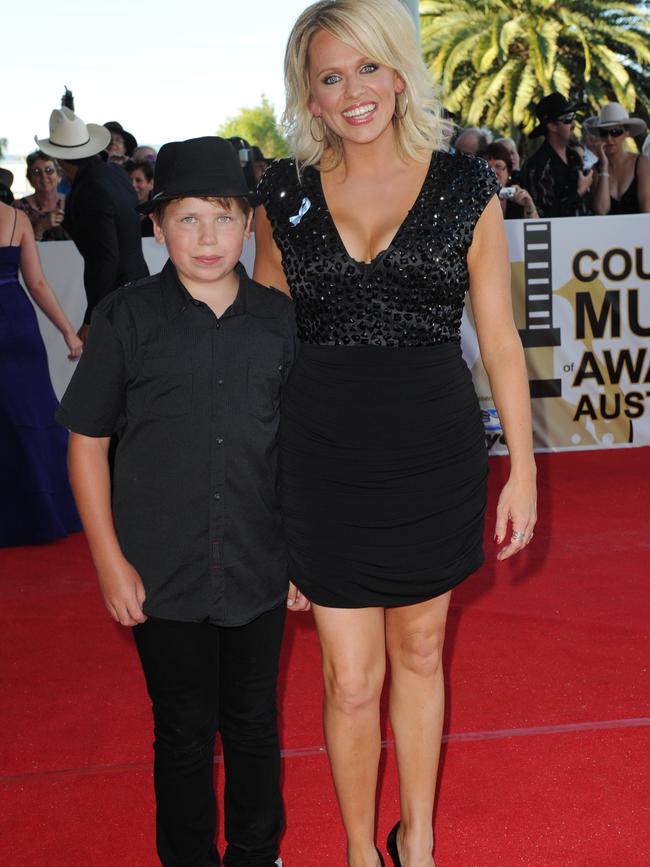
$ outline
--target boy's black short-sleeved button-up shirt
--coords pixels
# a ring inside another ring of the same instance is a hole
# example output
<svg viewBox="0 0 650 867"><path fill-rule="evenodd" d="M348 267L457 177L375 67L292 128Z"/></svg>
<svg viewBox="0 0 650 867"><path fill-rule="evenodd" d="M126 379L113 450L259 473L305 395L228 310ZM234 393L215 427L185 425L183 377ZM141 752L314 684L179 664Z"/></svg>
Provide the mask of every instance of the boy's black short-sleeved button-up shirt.
<svg viewBox="0 0 650 867"><path fill-rule="evenodd" d="M293 306L237 274L220 318L171 262L109 295L57 412L77 433L119 438L115 526L154 617L237 626L287 593L277 450Z"/></svg>

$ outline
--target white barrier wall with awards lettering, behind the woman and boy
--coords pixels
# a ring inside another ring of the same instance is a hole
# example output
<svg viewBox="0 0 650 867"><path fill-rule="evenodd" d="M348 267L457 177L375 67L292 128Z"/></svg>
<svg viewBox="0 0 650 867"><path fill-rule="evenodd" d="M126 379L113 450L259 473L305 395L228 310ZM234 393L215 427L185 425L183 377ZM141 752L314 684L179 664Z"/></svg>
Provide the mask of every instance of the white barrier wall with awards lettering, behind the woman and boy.
<svg viewBox="0 0 650 867"><path fill-rule="evenodd" d="M650 445L650 214L506 223L515 322L531 387L535 447L543 451ZM166 251L143 241L151 273ZM39 244L43 270L74 324L85 310L72 242ZM251 273L254 240L242 261ZM74 370L59 332L38 311L54 389ZM463 352L493 454L501 425L468 307Z"/></svg>

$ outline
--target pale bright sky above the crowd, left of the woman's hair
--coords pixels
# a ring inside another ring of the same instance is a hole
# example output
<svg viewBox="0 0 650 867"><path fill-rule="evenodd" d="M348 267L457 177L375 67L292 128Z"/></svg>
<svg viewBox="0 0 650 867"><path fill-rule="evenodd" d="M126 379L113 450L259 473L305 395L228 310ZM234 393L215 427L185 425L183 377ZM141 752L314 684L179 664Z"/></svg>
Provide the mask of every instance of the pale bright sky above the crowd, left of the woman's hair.
<svg viewBox="0 0 650 867"><path fill-rule="evenodd" d="M2 12L0 137L47 137L64 85L86 122L142 144L214 134L265 94L284 106L287 36L309 0L9 0ZM8 9L6 7L9 7Z"/></svg>

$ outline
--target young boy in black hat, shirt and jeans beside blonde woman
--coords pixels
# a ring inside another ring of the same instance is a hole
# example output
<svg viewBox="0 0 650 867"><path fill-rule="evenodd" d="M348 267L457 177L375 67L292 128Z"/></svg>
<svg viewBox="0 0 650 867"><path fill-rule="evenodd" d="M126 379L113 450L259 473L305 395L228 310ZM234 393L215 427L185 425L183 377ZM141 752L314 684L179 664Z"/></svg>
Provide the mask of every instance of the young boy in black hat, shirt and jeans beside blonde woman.
<svg viewBox="0 0 650 867"><path fill-rule="evenodd" d="M97 306L57 417L72 431L70 477L104 601L135 627L153 704L161 863L220 863L219 730L224 865L271 867L283 827L276 459L292 306L238 264L252 207L229 142L164 145L153 192L139 209L169 261Z"/></svg>

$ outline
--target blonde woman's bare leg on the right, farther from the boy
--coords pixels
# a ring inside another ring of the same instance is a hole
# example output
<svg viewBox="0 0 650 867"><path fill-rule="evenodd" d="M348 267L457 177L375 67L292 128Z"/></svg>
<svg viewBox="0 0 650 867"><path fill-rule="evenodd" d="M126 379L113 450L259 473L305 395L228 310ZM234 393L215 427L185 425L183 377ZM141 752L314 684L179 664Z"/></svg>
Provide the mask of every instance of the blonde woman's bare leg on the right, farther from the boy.
<svg viewBox="0 0 650 867"><path fill-rule="evenodd" d="M451 593L386 609L390 720L400 784L404 867L432 867L433 802L445 708L442 647Z"/></svg>

